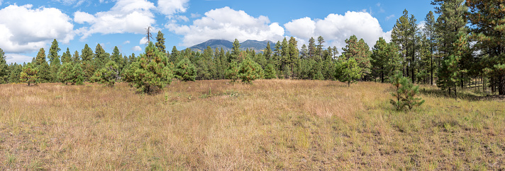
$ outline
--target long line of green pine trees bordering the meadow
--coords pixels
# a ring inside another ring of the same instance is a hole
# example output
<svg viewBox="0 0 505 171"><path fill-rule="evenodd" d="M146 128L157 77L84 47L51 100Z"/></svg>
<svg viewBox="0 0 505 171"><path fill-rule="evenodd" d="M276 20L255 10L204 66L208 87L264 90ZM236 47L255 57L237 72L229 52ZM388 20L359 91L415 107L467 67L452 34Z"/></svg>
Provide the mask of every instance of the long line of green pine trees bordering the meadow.
<svg viewBox="0 0 505 171"><path fill-rule="evenodd" d="M241 51L236 39L231 51L211 47L203 52L179 51L174 46L168 52L161 32L138 57L123 55L117 47L109 54L101 45L94 51L85 45L80 54L70 54L67 48L60 56L61 49L54 40L47 58L41 48L30 63L7 65L0 49L0 83L96 81L111 86L113 81L126 81L135 85L138 76L162 69L154 72L166 77L162 83L170 83L172 78L240 79L245 83L256 78L292 78L339 80L350 85L359 80L391 81L401 73L411 83L436 85L450 94L456 95L458 88L473 87L505 95L505 4L499 0L434 0L431 4L435 11L429 11L422 25L404 10L392 29L390 42L380 37L370 48L353 35L345 40L341 54L337 47L324 47L321 36L311 37L309 45L301 45L301 49L290 37L274 45L268 43L262 52ZM146 73L135 73L139 68ZM30 82L30 73L35 71L37 79ZM137 82L159 79L157 76Z"/></svg>

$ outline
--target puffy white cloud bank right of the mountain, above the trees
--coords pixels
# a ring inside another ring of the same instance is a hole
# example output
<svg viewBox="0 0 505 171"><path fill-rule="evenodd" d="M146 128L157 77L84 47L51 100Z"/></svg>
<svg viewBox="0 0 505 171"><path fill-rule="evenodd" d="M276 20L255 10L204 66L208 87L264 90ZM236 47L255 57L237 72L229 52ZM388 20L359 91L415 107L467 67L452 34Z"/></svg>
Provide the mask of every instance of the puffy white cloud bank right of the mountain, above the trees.
<svg viewBox="0 0 505 171"><path fill-rule="evenodd" d="M330 14L324 19L300 18L284 24L287 31L308 42L310 37L324 37L325 46L345 47L345 40L351 35L362 38L372 47L379 37L389 42L391 33L384 33L377 18L370 13L348 11L345 15Z"/></svg>

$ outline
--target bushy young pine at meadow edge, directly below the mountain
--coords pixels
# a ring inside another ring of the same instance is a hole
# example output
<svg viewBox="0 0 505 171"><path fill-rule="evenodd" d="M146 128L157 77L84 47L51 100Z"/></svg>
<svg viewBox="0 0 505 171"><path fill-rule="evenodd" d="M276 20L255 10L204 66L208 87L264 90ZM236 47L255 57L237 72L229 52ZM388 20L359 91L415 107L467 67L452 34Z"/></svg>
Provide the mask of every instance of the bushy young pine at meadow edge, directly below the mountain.
<svg viewBox="0 0 505 171"><path fill-rule="evenodd" d="M238 77L243 83L251 83L258 78L263 77L263 69L260 64L257 64L250 56L246 57L239 66Z"/></svg>

